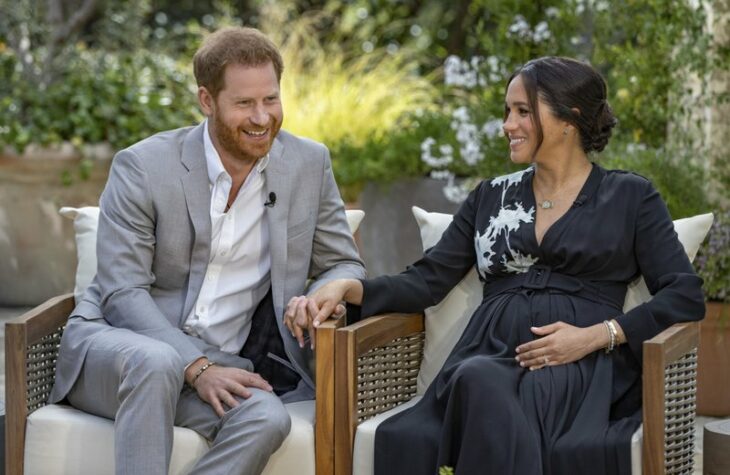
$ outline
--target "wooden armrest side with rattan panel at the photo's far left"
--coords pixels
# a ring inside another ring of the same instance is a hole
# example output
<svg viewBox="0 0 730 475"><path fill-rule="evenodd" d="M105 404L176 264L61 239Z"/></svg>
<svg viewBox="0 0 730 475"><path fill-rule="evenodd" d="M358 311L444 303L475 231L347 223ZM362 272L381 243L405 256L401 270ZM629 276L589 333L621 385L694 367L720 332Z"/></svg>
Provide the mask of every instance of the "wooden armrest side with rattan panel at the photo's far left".
<svg viewBox="0 0 730 475"><path fill-rule="evenodd" d="M5 470L23 473L25 420L46 404L73 294L54 297L5 324Z"/></svg>

